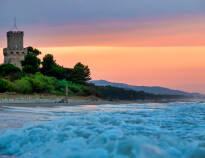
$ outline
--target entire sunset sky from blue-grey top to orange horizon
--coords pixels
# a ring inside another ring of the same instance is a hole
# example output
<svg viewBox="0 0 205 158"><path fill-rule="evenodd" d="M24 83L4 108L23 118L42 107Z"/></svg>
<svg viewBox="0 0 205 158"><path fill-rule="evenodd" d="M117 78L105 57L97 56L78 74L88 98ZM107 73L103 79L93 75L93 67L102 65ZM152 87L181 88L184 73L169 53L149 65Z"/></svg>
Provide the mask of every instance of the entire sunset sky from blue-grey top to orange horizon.
<svg viewBox="0 0 205 158"><path fill-rule="evenodd" d="M0 2L1 50L16 15L25 46L39 48L42 56L54 54L63 66L81 61L92 79L205 93L201 0L21 2L21 10L12 8L18 2Z"/></svg>

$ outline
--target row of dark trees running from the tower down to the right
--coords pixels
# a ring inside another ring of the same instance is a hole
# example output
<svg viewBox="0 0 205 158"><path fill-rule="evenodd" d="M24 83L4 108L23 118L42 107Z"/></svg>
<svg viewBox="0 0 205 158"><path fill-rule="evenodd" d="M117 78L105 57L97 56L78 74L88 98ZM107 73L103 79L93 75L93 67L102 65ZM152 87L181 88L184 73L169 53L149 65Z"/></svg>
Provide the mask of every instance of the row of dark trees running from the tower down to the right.
<svg viewBox="0 0 205 158"><path fill-rule="evenodd" d="M90 78L90 69L82 63L77 63L73 68L65 68L56 63L52 54L46 54L41 61L38 55L41 52L28 47L28 54L22 61L22 71L26 74L41 72L45 76L52 76L59 80L67 80L77 84L85 84Z"/></svg>

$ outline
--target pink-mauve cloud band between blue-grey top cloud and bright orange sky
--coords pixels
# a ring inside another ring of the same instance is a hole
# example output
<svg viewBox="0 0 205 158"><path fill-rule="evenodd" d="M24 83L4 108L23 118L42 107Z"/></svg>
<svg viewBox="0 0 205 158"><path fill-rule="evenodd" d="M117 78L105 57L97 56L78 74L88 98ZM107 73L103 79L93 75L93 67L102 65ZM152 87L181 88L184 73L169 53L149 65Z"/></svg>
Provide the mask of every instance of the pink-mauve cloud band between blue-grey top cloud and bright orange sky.
<svg viewBox="0 0 205 158"><path fill-rule="evenodd" d="M204 46L203 16L26 27L33 46Z"/></svg>

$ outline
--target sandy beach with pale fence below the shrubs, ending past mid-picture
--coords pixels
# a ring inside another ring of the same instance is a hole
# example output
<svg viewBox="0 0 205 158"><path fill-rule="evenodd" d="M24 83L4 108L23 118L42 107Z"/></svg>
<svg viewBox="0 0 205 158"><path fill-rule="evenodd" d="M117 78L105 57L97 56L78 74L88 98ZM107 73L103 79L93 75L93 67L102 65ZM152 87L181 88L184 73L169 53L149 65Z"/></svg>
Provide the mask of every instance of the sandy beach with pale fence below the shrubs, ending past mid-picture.
<svg viewBox="0 0 205 158"><path fill-rule="evenodd" d="M52 107L52 106L76 106L76 105L102 105L102 104L127 104L135 101L109 101L96 97L69 97L67 103L61 103L64 96L55 95L8 95L1 94L0 106L20 107Z"/></svg>

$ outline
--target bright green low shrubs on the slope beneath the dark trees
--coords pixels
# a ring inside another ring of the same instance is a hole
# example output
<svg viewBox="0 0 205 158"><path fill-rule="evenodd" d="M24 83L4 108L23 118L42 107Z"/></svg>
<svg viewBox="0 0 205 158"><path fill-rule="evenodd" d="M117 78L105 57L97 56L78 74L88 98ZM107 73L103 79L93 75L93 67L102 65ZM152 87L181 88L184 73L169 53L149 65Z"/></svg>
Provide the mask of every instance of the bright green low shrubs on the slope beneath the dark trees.
<svg viewBox="0 0 205 158"><path fill-rule="evenodd" d="M70 96L95 95L97 97L101 97L100 93L94 88L66 80L58 80L55 77L44 76L40 72L25 75L14 82L0 79L0 92L17 92L22 94L49 93L64 95L66 85L68 86L68 94Z"/></svg>

